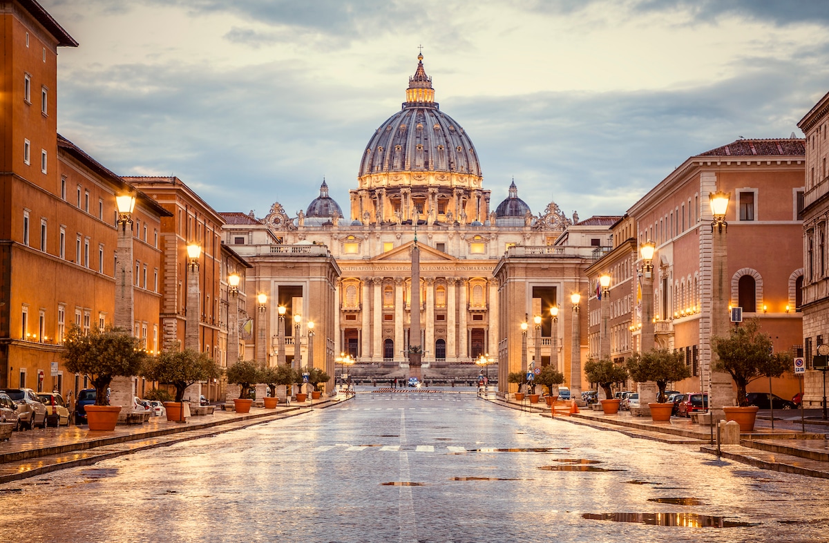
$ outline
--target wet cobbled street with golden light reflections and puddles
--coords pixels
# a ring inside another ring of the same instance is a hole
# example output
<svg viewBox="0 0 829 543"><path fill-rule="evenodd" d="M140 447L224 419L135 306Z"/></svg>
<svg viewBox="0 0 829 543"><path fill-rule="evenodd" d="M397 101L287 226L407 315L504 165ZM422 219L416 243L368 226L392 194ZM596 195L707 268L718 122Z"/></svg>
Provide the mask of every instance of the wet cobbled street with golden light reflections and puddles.
<svg viewBox="0 0 829 543"><path fill-rule="evenodd" d="M325 410L0 485L10 541L826 541L825 481L475 395Z"/></svg>

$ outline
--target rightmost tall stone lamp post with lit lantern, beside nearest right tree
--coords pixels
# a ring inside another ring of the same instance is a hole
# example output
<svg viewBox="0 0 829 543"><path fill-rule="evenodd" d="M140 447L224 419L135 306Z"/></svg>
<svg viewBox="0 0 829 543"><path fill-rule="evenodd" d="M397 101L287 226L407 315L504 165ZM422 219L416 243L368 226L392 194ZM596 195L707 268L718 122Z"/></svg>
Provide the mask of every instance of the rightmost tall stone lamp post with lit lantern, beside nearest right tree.
<svg viewBox="0 0 829 543"><path fill-rule="evenodd" d="M730 297L726 293L730 292L730 278L726 277L728 274L726 265L726 251L728 250L728 246L726 244L725 233L728 231L728 223L725 222L725 213L728 211L730 195L728 192L717 191L710 192L708 197L711 205L711 215L714 216L714 220L711 221L712 284L710 330L711 337L724 337L728 333L729 328L728 298ZM708 405L709 412L713 414L711 416L712 439L714 417L720 420L725 416L721 408L714 410L715 402L719 405L730 405L728 397L733 394L728 374L723 371L713 371L713 365L716 360L716 352L712 349L708 367L710 383Z"/></svg>

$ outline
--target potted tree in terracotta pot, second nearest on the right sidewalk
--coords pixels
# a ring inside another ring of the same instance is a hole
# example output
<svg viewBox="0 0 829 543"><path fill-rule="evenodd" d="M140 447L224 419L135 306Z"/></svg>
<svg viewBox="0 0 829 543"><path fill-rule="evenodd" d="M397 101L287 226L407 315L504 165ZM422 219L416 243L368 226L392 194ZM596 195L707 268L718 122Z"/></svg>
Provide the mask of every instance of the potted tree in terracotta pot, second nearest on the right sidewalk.
<svg viewBox="0 0 829 543"><path fill-rule="evenodd" d="M657 422L671 420L673 404L667 403L665 388L669 382L682 381L691 376L691 369L685 363L685 357L679 351L653 349L636 353L626 362L631 379L638 383L656 381L659 393L656 402L648 402L651 419ZM642 401L642 398L639 399Z"/></svg>

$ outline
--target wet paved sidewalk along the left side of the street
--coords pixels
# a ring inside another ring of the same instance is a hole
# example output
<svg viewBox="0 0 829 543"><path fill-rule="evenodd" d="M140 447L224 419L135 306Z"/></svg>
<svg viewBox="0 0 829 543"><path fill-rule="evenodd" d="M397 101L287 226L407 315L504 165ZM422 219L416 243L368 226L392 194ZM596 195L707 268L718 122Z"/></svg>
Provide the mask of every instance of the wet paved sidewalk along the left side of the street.
<svg viewBox="0 0 829 543"><path fill-rule="evenodd" d="M313 409L345 400L317 400ZM308 401L303 405L280 405L275 410L252 407L245 414L216 410L214 415L191 416L183 423L153 417L144 424L119 424L113 432L90 432L85 425L18 431L12 439L0 442L0 483L303 415L311 410Z"/></svg>

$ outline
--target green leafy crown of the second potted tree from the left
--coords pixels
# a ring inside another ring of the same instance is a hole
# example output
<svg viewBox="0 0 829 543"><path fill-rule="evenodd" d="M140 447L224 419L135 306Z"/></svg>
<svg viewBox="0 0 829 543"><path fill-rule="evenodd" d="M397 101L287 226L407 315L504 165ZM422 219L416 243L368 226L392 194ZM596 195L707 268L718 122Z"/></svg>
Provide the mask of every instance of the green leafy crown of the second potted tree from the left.
<svg viewBox="0 0 829 543"><path fill-rule="evenodd" d="M178 351L176 347L164 349L155 357L148 356L141 375L149 381L175 386L176 401L182 401L188 386L221 376L221 369L203 352Z"/></svg>

